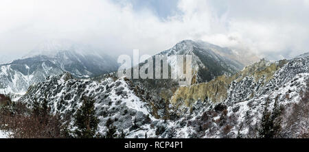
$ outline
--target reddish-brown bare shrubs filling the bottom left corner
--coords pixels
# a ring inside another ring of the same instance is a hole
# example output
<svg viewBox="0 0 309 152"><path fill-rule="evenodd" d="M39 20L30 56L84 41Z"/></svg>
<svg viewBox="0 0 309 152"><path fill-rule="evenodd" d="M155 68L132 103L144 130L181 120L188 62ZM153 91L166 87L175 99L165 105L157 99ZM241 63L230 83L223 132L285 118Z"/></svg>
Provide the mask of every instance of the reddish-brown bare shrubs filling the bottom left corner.
<svg viewBox="0 0 309 152"><path fill-rule="evenodd" d="M60 116L49 111L35 113L25 103L10 102L0 107L0 129L12 133L12 138L63 138Z"/></svg>

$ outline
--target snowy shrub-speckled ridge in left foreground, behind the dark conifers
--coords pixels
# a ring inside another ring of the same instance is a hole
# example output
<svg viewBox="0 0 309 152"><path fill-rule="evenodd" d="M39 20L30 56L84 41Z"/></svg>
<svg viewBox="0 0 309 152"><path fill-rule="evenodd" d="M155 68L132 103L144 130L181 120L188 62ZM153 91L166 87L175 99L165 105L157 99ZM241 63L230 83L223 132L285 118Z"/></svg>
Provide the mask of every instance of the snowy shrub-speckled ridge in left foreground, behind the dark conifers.
<svg viewBox="0 0 309 152"><path fill-rule="evenodd" d="M107 131L105 123L108 118L114 121L117 134L126 131L128 136L138 136L131 128L136 126L138 126L136 129L148 128L150 122L155 120L150 114L148 103L135 95L128 80L124 78L110 77L97 82L73 79L69 73L66 73L30 87L20 101L32 106L33 101L43 101L45 96L49 106L52 107L52 112L61 114L63 117L72 116L78 110L82 105L82 96L94 99L95 110L100 119L101 134ZM73 129L73 118L70 120Z"/></svg>

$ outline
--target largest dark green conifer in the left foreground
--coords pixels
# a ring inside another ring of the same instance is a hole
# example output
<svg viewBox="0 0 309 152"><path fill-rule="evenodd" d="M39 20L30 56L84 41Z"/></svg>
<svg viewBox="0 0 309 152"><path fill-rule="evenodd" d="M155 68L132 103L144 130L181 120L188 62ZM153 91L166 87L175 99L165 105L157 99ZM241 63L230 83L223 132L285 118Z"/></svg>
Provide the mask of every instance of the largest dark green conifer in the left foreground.
<svg viewBox="0 0 309 152"><path fill-rule="evenodd" d="M82 101L82 106L75 116L75 126L78 127L75 133L78 138L94 138L99 123L98 118L95 116L95 101L88 97L82 97Z"/></svg>

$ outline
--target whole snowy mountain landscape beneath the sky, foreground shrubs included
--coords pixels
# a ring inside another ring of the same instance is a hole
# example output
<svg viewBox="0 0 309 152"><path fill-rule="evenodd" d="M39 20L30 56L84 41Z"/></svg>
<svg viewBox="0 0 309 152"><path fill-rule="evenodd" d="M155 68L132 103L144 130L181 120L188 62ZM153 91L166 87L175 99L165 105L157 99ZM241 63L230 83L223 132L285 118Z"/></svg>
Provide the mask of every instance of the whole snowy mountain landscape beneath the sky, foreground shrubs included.
<svg viewBox="0 0 309 152"><path fill-rule="evenodd" d="M244 66L209 46L183 40L133 66L123 55L120 71L99 76L38 58L3 65L8 91L23 84L13 77L44 77L14 100L2 92L0 129L12 138L308 138L308 53ZM185 77L172 77L180 68Z"/></svg>

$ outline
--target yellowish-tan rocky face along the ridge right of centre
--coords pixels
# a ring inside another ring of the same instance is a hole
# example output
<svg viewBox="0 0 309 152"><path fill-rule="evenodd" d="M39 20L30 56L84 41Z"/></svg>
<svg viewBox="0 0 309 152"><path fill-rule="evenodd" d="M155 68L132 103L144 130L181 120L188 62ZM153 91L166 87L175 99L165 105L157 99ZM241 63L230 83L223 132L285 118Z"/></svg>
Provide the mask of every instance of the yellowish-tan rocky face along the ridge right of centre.
<svg viewBox="0 0 309 152"><path fill-rule="evenodd" d="M286 60L275 63L260 60L260 62L247 66L244 70L231 77L222 75L208 83L179 87L174 93L171 102L179 106L183 105L183 101L185 101L184 104L187 107L192 106L192 103L198 100L220 103L227 100L228 94L233 94L233 97L229 97L230 101L239 101L244 97L250 99L255 94L255 90L258 90L257 87L260 87L261 84L268 83L273 78L273 74L284 64L286 64ZM247 86L241 88L242 86L238 85L240 83L254 83L250 87L254 87L255 89L249 89ZM240 90L241 92L236 92L236 90Z"/></svg>

